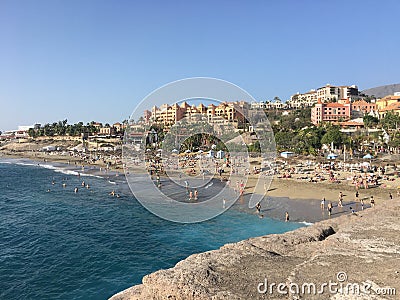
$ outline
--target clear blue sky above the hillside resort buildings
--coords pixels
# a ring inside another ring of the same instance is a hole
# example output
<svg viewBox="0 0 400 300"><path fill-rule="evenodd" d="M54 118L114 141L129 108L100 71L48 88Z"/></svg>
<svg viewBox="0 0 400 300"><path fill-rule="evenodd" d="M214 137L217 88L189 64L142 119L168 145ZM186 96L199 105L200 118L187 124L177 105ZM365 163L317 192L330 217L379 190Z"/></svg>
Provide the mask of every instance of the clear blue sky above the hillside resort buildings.
<svg viewBox="0 0 400 300"><path fill-rule="evenodd" d="M257 100L399 83L400 1L1 0L0 130L113 123L168 82Z"/></svg>

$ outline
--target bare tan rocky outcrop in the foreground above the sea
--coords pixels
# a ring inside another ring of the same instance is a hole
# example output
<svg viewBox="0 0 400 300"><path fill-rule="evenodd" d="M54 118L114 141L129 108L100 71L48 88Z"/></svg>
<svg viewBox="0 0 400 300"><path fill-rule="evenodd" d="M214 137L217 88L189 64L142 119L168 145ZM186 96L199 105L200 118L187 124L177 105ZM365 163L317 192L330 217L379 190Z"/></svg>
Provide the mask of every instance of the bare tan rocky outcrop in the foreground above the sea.
<svg viewBox="0 0 400 300"><path fill-rule="evenodd" d="M399 299L399 217L400 201L392 200L227 244L147 275L111 299Z"/></svg>

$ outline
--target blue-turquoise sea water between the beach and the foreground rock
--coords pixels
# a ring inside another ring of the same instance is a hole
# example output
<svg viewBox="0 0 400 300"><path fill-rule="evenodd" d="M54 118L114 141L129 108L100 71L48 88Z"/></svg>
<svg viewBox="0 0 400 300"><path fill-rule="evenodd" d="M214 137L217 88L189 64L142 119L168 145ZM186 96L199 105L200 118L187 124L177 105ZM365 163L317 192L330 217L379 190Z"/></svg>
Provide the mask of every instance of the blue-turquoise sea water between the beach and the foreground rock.
<svg viewBox="0 0 400 300"><path fill-rule="evenodd" d="M0 299L107 299L190 254L304 226L235 209L172 223L144 209L122 176L113 181L0 159Z"/></svg>

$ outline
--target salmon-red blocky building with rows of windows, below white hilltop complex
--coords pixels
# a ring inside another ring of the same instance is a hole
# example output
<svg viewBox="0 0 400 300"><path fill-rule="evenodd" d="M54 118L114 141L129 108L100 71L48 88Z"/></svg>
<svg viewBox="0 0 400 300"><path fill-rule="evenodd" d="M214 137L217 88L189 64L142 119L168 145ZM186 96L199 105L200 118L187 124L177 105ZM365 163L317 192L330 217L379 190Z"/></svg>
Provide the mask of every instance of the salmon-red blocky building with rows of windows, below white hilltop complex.
<svg viewBox="0 0 400 300"><path fill-rule="evenodd" d="M344 103L323 103L318 99L311 108L311 122L318 125L322 122L345 122L350 120L351 104L349 100Z"/></svg>

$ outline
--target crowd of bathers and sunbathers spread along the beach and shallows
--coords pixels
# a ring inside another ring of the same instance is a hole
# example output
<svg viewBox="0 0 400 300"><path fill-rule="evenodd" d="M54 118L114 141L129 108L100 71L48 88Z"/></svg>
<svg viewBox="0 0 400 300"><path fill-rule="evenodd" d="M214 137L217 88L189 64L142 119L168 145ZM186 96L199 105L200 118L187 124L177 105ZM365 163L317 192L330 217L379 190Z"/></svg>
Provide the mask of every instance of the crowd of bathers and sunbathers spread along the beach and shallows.
<svg viewBox="0 0 400 300"><path fill-rule="evenodd" d="M235 194L243 197L246 190L246 183L244 178L246 176L260 176L266 178L268 176L275 176L280 179L299 180L309 183L327 182L327 183L342 183L348 186L353 186L355 191L354 198L345 195L342 191L339 192L337 202L333 199L327 200L325 197L321 200L321 211L327 212L330 217L334 214L342 214L349 211L351 214L356 214L359 210L364 210L366 207L375 206L374 195L365 195L360 197L360 191L365 191L372 188L387 188L390 184L399 182L398 167L396 164L380 164L372 165L370 163L357 163L357 164L344 164L342 162L311 162L311 161L296 161L293 165L287 161L281 160L279 162L268 162L264 167L254 165L250 167L250 159L246 156L230 157L227 155L224 158L205 157L204 155L186 155L178 158L170 159L163 158L160 155L147 154L146 168L151 178L154 180L155 185L161 189L164 180L162 176L168 177L168 172L175 171L177 173L183 172L186 176L184 178L198 178L201 177L203 181L209 181L210 178L220 178L221 182L225 182L229 188L232 188ZM79 154L80 159L90 164L95 163L93 157L82 156ZM115 164L120 163L117 157L114 157ZM100 166L100 172L108 172L112 164L104 160L105 166ZM70 162L69 162L70 164ZM78 165L74 161L75 165ZM90 166L90 165L89 165ZM128 167L123 166L126 171ZM85 165L82 164L82 172L85 171ZM182 175L179 175L181 178ZM236 176L236 177L231 177ZM232 180L232 178L238 178ZM206 180L207 179L207 180ZM183 179L182 179L183 180ZM232 182L233 181L233 182ZM199 201L199 190L208 188L212 185L206 184L204 187L191 188L187 179L184 181L184 188L186 190L187 198L183 201ZM54 183L53 183L54 184ZM66 183L63 182L63 187ZM90 189L88 183L82 182L82 188ZM399 186L400 187L400 186ZM50 189L48 190L50 191ZM373 190L371 190L373 191ZM78 193L79 188L74 187L74 192ZM267 188L264 184L264 193L267 193ZM400 189L397 190L397 197L400 197ZM110 191L109 196L120 197L120 194L115 190ZM346 199L345 199L346 197ZM393 199L393 193L388 192L388 199ZM203 200L203 199L202 199ZM345 203L346 200L346 203ZM223 199L223 207L225 208L227 200ZM367 203L368 202L368 203ZM347 207L347 208L346 208ZM256 213L263 217L261 203L256 206ZM289 221L289 212L285 211L284 220Z"/></svg>

